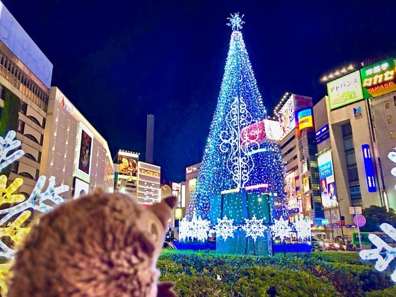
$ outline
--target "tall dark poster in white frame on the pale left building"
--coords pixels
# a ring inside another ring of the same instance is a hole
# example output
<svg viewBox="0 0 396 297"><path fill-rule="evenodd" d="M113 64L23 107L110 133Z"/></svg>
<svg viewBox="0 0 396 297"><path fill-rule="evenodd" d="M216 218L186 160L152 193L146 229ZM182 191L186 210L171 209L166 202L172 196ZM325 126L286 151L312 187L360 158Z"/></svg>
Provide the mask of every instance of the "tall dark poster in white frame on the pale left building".
<svg viewBox="0 0 396 297"><path fill-rule="evenodd" d="M92 144L94 134L82 123L78 123L78 134L76 146L76 160L74 175L89 183L91 174Z"/></svg>

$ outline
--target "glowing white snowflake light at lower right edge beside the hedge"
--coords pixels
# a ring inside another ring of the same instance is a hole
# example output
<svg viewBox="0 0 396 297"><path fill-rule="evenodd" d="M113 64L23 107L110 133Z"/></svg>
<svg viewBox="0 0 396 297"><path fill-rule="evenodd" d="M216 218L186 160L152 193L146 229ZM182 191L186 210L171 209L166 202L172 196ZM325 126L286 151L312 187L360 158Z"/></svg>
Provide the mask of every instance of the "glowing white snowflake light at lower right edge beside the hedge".
<svg viewBox="0 0 396 297"><path fill-rule="evenodd" d="M396 241L396 229L387 223L382 223L380 226L381 230L384 231L390 238ZM391 247L385 241L375 234L369 234L368 239L377 247L371 249L364 249L359 252L360 258L363 260L377 260L375 263L375 269L377 271L384 271L388 268L389 264L396 257L396 247ZM385 249L385 258L381 255L381 250ZM391 279L396 282L396 269L391 274Z"/></svg>

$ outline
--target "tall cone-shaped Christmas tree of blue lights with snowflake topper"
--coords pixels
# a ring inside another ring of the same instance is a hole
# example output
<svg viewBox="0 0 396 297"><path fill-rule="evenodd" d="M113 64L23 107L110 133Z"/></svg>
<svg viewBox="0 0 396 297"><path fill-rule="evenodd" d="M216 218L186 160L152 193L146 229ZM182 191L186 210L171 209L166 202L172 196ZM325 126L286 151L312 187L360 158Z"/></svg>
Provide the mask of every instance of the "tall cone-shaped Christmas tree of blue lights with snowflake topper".
<svg viewBox="0 0 396 297"><path fill-rule="evenodd" d="M210 219L209 211L219 213L225 203L214 203L216 197L243 189L270 193L273 217L278 218L284 213L285 166L278 145L265 135L267 114L240 31L242 18L235 14L229 19L230 49L187 218ZM240 203L235 207L241 208Z"/></svg>

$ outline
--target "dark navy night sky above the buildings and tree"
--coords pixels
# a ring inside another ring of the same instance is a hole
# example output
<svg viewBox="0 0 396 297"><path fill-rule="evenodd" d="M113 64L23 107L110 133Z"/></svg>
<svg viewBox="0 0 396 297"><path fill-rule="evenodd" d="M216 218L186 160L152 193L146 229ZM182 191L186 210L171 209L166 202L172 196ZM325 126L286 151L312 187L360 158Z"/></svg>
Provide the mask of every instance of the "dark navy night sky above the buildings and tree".
<svg viewBox="0 0 396 297"><path fill-rule="evenodd" d="M230 13L245 14L242 32L269 115L285 92L316 103L326 95L323 75L396 56L396 1L345 2L3 0L52 62L51 85L107 140L113 158L121 148L145 160L154 115L154 163L166 183L185 180L185 167L201 160Z"/></svg>

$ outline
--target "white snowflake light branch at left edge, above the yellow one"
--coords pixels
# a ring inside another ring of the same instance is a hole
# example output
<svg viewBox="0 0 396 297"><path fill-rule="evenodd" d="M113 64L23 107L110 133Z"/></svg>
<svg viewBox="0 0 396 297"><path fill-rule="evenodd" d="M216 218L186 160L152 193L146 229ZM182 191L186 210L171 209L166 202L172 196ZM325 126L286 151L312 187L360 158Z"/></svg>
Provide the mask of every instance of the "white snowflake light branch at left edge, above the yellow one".
<svg viewBox="0 0 396 297"><path fill-rule="evenodd" d="M21 146L20 140L14 140L16 132L11 130L2 138L0 136L0 171L12 162L15 162L25 153L22 149L15 150L11 154L9 152Z"/></svg>

